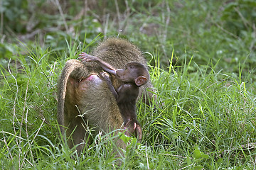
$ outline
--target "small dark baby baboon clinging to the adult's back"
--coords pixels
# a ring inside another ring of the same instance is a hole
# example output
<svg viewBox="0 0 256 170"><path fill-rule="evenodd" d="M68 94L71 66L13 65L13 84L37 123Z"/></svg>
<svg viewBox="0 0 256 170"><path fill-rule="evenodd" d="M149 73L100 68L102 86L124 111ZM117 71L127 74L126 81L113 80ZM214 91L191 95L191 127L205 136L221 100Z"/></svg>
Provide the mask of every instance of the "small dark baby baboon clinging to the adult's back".
<svg viewBox="0 0 256 170"><path fill-rule="evenodd" d="M124 69L114 69L110 64L103 62L98 57L87 55L85 52L82 52L80 56L82 62L97 62L102 69L122 81L123 84L115 90L110 77L107 74L102 74L117 101L117 106L124 119L124 129L127 129L126 135L134 133L139 140L142 140L142 128L136 114L136 101L139 95L139 86L146 84L149 80L149 72L146 67L138 62L129 62Z"/></svg>

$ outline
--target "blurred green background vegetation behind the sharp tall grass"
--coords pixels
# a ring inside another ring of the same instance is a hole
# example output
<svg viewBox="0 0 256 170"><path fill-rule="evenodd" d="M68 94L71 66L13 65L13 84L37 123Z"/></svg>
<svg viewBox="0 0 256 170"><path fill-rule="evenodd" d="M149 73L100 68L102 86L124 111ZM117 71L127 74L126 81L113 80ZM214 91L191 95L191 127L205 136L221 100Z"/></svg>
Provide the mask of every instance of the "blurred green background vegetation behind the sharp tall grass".
<svg viewBox="0 0 256 170"><path fill-rule="evenodd" d="M253 0L236 1L1 1L1 60L15 51L17 40L50 47L63 57L66 40L90 43L99 33L125 37L144 52L159 52L162 67L181 65L184 51L197 64L238 72L255 64ZM18 44L18 43L17 43ZM177 59L177 58L178 59ZM196 71L195 66L191 72Z"/></svg>

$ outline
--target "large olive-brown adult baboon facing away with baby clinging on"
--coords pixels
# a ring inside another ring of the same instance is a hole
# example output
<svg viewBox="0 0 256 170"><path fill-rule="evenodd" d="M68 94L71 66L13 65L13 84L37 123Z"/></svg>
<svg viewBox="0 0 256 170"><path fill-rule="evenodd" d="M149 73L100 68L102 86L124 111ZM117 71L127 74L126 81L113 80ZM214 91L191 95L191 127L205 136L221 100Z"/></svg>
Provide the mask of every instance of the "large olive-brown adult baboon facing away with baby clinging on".
<svg viewBox="0 0 256 170"><path fill-rule="evenodd" d="M142 52L127 40L118 38L107 39L98 45L92 54L109 63L114 68L124 68L129 62L138 62L146 66ZM58 123L61 132L69 137L68 145L81 152L87 137L87 125L97 127L95 132L119 129L123 119L119 112L116 99L108 85L100 79L102 68L95 62L82 63L79 60L68 60L58 82ZM114 89L122 82L110 75ZM148 81L139 88L139 98L148 103L153 96L146 89L152 89ZM80 143L83 144L80 144ZM117 146L124 148L122 140Z"/></svg>

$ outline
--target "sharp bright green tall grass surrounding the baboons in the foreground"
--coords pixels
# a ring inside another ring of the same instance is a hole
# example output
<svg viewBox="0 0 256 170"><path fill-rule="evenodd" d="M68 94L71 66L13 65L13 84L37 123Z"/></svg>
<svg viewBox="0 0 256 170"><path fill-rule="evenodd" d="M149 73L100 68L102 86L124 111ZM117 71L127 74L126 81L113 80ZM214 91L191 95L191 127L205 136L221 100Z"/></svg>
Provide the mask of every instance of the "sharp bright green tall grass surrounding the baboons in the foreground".
<svg viewBox="0 0 256 170"><path fill-rule="evenodd" d="M242 68L238 77L215 72L215 65L189 72L189 56L165 71L158 52L146 53L156 63L150 73L158 100L138 104L142 143L128 137L127 150L115 157L112 133L97 135L79 157L59 140L55 91L64 62L49 63L51 54L27 49L1 66L2 169L255 169L255 87Z"/></svg>

